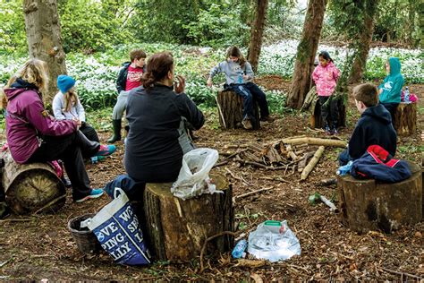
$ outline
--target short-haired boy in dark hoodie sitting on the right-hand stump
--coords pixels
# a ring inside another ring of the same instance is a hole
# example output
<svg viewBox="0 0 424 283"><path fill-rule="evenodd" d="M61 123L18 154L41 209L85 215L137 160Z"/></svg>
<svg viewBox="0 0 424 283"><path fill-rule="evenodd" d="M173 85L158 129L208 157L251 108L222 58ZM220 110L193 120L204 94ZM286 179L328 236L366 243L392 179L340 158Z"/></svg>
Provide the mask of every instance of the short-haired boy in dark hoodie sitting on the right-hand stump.
<svg viewBox="0 0 424 283"><path fill-rule="evenodd" d="M339 155L340 166L359 159L373 144L381 146L394 156L397 135L390 113L386 107L378 104L377 87L371 83L360 84L353 89L353 96L360 119L353 130L348 149Z"/></svg>

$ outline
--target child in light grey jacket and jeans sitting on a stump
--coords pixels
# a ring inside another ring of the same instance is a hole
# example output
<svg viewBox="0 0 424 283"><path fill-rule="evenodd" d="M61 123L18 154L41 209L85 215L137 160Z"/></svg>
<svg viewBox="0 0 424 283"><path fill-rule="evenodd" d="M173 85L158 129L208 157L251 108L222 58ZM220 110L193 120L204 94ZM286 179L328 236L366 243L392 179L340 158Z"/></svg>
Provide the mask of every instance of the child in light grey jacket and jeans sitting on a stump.
<svg viewBox="0 0 424 283"><path fill-rule="evenodd" d="M252 124L255 124L255 116L253 115L254 101L257 101L260 109L260 121L272 122L269 116L267 98L265 93L259 87L251 82L254 73L251 65L242 56L242 52L238 47L230 47L227 52L227 60L219 63L214 67L208 78L208 87L212 86L212 79L216 73L225 73L226 84L225 89L233 90L243 99L243 120L242 125L245 129L250 130Z"/></svg>

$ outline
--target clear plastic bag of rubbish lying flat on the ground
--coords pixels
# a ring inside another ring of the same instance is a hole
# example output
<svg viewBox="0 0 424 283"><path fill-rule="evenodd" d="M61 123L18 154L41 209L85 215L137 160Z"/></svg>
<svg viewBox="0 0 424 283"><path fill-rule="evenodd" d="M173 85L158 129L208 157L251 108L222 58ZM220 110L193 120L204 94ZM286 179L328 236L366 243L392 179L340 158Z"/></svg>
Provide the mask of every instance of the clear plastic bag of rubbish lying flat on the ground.
<svg viewBox="0 0 424 283"><path fill-rule="evenodd" d="M301 244L287 221L267 220L250 232L248 253L258 259L278 262L301 254Z"/></svg>

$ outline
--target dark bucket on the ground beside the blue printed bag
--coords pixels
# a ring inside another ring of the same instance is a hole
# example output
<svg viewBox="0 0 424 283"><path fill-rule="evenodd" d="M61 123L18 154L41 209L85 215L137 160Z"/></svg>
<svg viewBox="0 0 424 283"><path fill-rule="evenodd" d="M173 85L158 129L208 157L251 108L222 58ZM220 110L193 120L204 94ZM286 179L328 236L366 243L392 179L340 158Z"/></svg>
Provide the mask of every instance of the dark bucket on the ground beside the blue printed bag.
<svg viewBox="0 0 424 283"><path fill-rule="evenodd" d="M81 253L98 253L101 249L98 238L94 233L88 227L81 228L81 222L93 216L94 214L85 214L68 222L68 229L71 231L72 237Z"/></svg>

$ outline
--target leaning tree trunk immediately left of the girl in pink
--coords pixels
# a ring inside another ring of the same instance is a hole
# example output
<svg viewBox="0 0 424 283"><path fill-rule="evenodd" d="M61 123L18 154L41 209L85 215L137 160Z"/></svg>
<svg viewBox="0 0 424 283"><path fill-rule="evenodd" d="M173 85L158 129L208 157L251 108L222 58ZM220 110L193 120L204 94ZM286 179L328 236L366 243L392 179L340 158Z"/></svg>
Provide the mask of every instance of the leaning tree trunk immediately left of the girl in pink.
<svg viewBox="0 0 424 283"><path fill-rule="evenodd" d="M310 0L306 12L301 42L297 47L292 86L287 106L300 109L310 90L310 74L313 72L318 41L321 36L322 21L326 12L326 0Z"/></svg>

